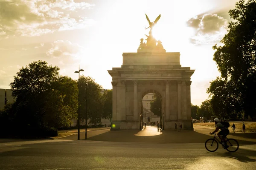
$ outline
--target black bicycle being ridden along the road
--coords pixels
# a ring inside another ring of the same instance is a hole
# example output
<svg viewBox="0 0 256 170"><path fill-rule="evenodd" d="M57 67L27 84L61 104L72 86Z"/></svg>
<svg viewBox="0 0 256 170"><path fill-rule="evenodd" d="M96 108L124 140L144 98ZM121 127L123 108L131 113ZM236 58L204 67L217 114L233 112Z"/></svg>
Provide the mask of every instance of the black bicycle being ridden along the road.
<svg viewBox="0 0 256 170"><path fill-rule="evenodd" d="M236 152L239 148L239 143L236 141L236 139L227 139L226 137L226 141L225 143L221 143L221 141L219 141L216 138L216 133L210 133L212 135L214 135L214 137L212 139L207 139L207 141L205 142L205 148L209 151L209 152L215 152L218 149L218 144L220 143L221 146L224 148L225 147L225 143L227 144L227 148L225 148L227 151L229 152Z"/></svg>

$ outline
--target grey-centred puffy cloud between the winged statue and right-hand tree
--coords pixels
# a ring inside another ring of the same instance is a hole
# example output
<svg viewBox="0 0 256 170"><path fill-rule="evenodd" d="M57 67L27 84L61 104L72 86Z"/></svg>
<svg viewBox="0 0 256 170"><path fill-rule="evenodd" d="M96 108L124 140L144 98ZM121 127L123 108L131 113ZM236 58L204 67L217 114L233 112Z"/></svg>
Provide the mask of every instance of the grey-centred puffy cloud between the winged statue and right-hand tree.
<svg viewBox="0 0 256 170"><path fill-rule="evenodd" d="M219 42L227 33L227 24L228 21L217 14L204 14L201 19L193 17L187 21L187 25L195 29L190 41L193 44Z"/></svg>

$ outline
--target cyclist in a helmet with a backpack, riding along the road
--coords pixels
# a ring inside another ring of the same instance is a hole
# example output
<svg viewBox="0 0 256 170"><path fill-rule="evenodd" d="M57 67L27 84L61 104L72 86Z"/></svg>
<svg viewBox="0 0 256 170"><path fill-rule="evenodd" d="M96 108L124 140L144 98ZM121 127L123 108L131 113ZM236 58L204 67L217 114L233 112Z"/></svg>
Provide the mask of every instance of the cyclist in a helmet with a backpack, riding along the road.
<svg viewBox="0 0 256 170"><path fill-rule="evenodd" d="M215 118L214 119L214 122L215 122L215 126L216 126L216 129L213 131L213 132L210 132L210 134L212 133L216 133L218 132L218 130L220 129L221 131L217 134L218 137L221 139L221 144L225 144L224 146L224 149L226 149L228 146L227 144L225 143L226 141L226 137L227 135L229 134L229 130L228 128L224 127L224 125L222 125L220 122L219 122L219 119L218 118ZM221 137L222 136L222 137Z"/></svg>

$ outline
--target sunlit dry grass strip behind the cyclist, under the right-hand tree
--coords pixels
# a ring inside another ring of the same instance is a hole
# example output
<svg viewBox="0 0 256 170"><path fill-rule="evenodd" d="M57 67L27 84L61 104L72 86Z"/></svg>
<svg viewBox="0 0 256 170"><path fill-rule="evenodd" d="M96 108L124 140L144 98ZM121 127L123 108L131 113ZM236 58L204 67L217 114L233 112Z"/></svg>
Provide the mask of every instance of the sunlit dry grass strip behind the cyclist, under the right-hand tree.
<svg viewBox="0 0 256 170"><path fill-rule="evenodd" d="M229 122L230 127L228 128L230 130L230 133L233 132L232 125L233 123L236 125L236 130L235 132L241 132L243 131L242 126L243 122ZM201 125L201 126L207 126L207 127L215 127L215 123L196 123L195 125ZM245 125L245 132L246 133L256 133L256 122L244 122Z"/></svg>

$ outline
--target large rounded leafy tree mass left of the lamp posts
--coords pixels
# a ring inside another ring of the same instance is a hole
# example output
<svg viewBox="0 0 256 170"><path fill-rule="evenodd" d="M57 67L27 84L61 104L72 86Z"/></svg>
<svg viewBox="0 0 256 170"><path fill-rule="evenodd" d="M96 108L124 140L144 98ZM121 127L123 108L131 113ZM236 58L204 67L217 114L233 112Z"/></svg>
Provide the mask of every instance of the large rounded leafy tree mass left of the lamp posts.
<svg viewBox="0 0 256 170"><path fill-rule="evenodd" d="M58 76L59 68L35 61L22 67L11 82L17 127L52 129L69 125L76 116L76 82Z"/></svg>

